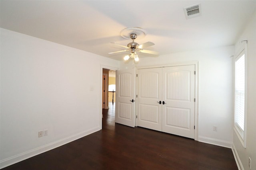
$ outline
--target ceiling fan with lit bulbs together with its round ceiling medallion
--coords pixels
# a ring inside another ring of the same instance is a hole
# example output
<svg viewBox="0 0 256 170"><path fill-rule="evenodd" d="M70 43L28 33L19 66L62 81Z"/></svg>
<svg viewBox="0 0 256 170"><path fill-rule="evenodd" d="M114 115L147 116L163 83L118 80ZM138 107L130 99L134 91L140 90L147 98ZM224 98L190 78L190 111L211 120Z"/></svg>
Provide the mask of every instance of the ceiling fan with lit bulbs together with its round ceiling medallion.
<svg viewBox="0 0 256 170"><path fill-rule="evenodd" d="M142 38L142 37L146 36L146 31L144 29L142 29L140 27L128 27L128 28L123 29L120 32L120 35L124 39L132 39L132 42L128 43L127 46L114 43L115 45L118 45L120 47L125 48L126 50L115 51L115 52L111 52L111 53L108 53L108 54L130 51L131 54L130 55L126 55L124 57L124 60L129 60L130 58L132 58L136 62L139 61L139 57L136 54L136 52L158 55L158 52L156 52L156 51L143 50L143 48L145 48L145 47L150 47L152 45L155 45L154 43L146 42L144 44L139 45L138 43L134 42L134 39L136 39L137 37Z"/></svg>

